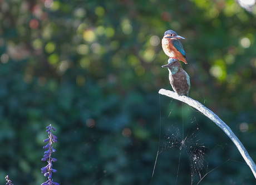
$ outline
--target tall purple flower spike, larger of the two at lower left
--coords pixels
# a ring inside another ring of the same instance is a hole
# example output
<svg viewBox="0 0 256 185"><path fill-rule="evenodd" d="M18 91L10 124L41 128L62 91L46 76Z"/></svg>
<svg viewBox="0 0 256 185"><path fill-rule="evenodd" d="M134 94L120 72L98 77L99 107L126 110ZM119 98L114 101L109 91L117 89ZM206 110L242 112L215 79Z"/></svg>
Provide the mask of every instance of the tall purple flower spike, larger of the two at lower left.
<svg viewBox="0 0 256 185"><path fill-rule="evenodd" d="M56 162L56 158L52 158L51 155L53 152L56 152L55 149L52 148L52 143L57 142L57 137L52 134L52 130L55 131L56 129L49 125L46 127L46 132L48 132L48 138L43 140L43 142L48 142L46 146L43 146L43 149L46 149L42 161L47 161L48 164L41 168L41 172L43 176L47 177L47 181L42 183L41 185L59 185L56 182L53 182L52 173L56 173L57 170L52 168L52 162Z"/></svg>

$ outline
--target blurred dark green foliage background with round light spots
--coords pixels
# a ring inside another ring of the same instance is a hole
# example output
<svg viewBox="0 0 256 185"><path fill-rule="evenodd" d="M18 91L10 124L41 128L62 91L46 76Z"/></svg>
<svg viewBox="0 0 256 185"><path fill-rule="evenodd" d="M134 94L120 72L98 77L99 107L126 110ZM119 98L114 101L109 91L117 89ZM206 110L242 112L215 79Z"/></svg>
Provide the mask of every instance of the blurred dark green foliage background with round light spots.
<svg viewBox="0 0 256 185"><path fill-rule="evenodd" d="M200 128L208 171L217 168L199 184L255 184L224 132L159 96L171 86L161 68L168 56L157 43L168 29L186 38L188 65L181 65L189 96L218 114L256 160L255 7L247 12L221 0L3 0L0 8L1 184L6 174L14 184L46 181L40 168L49 124L57 129L53 179L60 184L150 184L160 124L160 148L171 125L185 136ZM179 153L160 153L151 184L191 183L188 157L181 150L179 162Z"/></svg>

